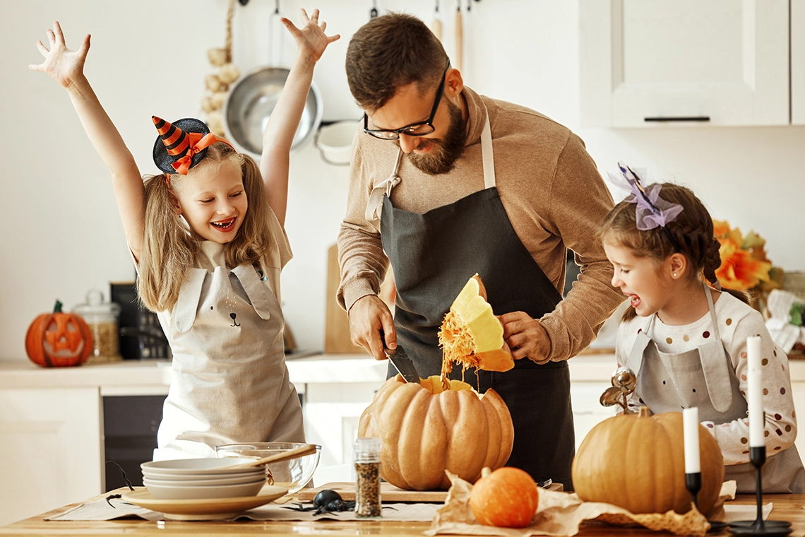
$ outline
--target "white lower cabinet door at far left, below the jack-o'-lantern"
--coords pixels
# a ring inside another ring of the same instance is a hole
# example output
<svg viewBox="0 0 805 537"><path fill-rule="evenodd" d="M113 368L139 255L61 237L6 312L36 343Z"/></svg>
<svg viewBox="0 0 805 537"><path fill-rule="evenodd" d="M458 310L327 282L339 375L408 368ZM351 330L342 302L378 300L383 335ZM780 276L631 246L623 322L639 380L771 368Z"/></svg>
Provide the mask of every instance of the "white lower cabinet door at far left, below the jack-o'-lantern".
<svg viewBox="0 0 805 537"><path fill-rule="evenodd" d="M0 526L101 492L97 388L0 390Z"/></svg>

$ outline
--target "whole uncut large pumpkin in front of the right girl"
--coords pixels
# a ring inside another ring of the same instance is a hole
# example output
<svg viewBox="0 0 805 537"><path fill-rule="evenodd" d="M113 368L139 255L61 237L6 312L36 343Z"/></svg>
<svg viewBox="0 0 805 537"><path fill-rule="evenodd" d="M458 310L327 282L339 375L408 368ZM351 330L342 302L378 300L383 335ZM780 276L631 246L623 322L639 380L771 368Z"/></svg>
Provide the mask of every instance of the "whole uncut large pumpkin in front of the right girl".
<svg viewBox="0 0 805 537"><path fill-rule="evenodd" d="M702 488L698 507L712 510L724 481L724 459L716 439L699 426ZM691 508L685 488L681 412L616 415L598 423L579 447L573 486L585 502L606 502L632 513L679 514Z"/></svg>

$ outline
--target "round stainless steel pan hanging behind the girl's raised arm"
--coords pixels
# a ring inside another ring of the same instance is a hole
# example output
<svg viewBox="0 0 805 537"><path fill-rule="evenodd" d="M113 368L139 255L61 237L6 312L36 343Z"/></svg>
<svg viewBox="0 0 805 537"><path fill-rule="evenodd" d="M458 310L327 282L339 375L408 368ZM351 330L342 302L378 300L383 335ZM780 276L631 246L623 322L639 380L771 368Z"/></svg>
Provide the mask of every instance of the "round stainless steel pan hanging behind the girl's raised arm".
<svg viewBox="0 0 805 537"><path fill-rule="evenodd" d="M288 69L279 67L255 69L236 81L226 97L226 136L255 159L259 160L262 155L262 133L266 130L266 123L277 104L289 72ZM319 89L312 82L302 119L291 143L291 154L316 134L323 114Z"/></svg>

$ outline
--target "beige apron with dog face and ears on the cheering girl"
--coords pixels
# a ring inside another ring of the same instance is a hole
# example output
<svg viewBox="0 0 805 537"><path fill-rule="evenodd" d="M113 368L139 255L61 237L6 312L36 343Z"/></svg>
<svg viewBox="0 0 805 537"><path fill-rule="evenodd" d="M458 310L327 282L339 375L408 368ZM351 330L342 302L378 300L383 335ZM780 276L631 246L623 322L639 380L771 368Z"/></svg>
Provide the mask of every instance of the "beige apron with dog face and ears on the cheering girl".
<svg viewBox="0 0 805 537"><path fill-rule="evenodd" d="M202 243L211 260L223 246ZM218 444L303 442L302 407L288 378L283 313L254 266L193 268L173 312L173 382L154 459L214 456Z"/></svg>

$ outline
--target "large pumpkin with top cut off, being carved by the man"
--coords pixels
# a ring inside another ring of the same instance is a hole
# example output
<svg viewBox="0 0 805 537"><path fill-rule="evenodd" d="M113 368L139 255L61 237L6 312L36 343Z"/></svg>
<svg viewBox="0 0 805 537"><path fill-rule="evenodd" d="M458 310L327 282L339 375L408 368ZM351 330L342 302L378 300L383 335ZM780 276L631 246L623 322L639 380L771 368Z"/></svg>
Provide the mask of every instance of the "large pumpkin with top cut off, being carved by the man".
<svg viewBox="0 0 805 537"><path fill-rule="evenodd" d="M447 385L448 389L444 389ZM474 483L481 469L506 464L514 427L495 390L478 394L439 376L421 384L388 379L361 415L358 436L381 440L380 475L407 490L448 489L450 470Z"/></svg>

